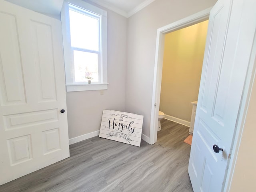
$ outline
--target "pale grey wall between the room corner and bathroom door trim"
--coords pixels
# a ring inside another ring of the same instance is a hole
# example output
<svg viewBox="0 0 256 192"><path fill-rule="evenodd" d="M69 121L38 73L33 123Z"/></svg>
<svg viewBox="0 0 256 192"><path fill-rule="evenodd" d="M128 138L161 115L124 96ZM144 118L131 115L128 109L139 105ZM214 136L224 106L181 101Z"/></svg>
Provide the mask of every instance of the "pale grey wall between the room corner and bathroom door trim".
<svg viewBox="0 0 256 192"><path fill-rule="evenodd" d="M217 0L156 0L128 18L126 112L144 115L149 137L156 30L213 6Z"/></svg>

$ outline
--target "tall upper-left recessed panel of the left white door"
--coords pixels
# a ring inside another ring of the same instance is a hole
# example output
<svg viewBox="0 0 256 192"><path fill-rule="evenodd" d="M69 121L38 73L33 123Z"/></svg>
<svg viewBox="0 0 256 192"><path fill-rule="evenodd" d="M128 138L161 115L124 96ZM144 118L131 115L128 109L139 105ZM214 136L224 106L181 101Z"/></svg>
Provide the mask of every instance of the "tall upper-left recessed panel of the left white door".
<svg viewBox="0 0 256 192"><path fill-rule="evenodd" d="M0 12L1 106L26 104L16 16Z"/></svg>

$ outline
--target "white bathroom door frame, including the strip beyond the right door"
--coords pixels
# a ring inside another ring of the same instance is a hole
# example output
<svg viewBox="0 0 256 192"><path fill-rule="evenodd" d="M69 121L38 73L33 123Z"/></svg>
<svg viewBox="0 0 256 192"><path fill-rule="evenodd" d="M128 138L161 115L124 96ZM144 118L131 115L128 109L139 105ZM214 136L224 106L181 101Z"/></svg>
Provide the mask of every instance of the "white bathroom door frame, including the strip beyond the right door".
<svg viewBox="0 0 256 192"><path fill-rule="evenodd" d="M182 29L182 28L185 28L209 19L211 9L212 7L157 29L149 144L154 144L156 143L156 140L157 140L158 111L160 106L162 67L163 67L163 58L164 58L164 36L167 33L170 33L170 32L173 32L173 31L176 31L176 30L179 30L179 29ZM236 121L236 128L234 131L234 137L231 145L230 153L232 152L232 154L228 162L228 167L227 167L228 171L226 172L226 176L224 180L224 186L223 186L224 191L230 190L232 176L234 174L236 158L238 155L238 149L239 149L240 141L242 138L242 132L243 132L243 128L246 120L246 114L249 106L250 95L252 92L252 85L253 85L255 76L256 76L256 37L254 37L254 43L253 43L252 52L250 56L250 62L248 65L248 71L246 74L246 80L244 84L244 91L241 98L239 114Z"/></svg>

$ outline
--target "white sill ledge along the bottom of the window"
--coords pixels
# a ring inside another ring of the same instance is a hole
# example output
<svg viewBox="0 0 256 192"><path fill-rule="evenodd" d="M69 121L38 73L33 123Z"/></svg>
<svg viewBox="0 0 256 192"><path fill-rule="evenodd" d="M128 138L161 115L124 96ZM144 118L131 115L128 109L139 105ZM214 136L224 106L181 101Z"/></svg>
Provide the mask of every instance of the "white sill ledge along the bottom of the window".
<svg viewBox="0 0 256 192"><path fill-rule="evenodd" d="M108 84L72 84L66 85L67 92L72 91L92 91L92 90L106 90L108 89Z"/></svg>

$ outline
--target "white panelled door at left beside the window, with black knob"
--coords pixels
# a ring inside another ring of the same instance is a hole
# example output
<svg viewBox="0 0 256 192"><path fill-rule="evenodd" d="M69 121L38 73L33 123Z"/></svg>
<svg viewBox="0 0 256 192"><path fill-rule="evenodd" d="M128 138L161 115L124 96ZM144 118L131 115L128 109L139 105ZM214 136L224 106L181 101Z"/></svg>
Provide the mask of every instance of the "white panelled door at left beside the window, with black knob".
<svg viewBox="0 0 256 192"><path fill-rule="evenodd" d="M0 184L69 157L60 21L0 0Z"/></svg>

